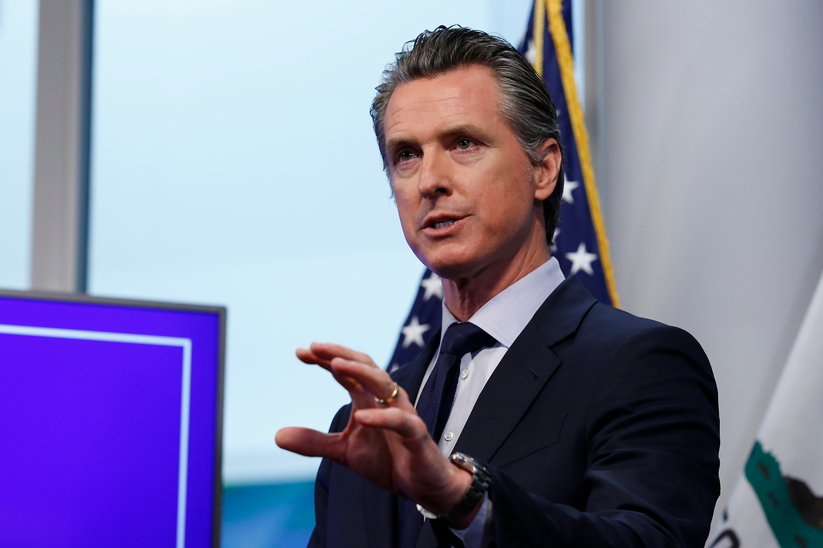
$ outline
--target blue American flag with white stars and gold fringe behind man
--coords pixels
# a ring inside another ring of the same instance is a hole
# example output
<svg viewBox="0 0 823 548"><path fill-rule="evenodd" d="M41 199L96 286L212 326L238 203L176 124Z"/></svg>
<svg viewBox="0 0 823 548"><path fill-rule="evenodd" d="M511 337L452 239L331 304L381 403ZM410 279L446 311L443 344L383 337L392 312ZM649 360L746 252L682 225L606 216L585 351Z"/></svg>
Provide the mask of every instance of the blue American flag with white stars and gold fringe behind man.
<svg viewBox="0 0 823 548"><path fill-rule="evenodd" d="M546 83L557 108L563 140L565 186L551 254L560 261L563 274L577 276L598 301L618 306L583 110L574 87L571 28L571 0L535 0L526 35L518 48ZM437 332L442 298L439 277L426 269L389 361L389 371L412 361Z"/></svg>

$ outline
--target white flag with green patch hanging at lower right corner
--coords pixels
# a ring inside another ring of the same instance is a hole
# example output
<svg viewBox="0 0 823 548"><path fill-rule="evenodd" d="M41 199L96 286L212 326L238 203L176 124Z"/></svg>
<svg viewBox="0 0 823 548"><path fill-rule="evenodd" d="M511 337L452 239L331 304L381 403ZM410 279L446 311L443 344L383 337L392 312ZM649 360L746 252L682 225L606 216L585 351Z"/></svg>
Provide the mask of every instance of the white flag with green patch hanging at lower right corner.
<svg viewBox="0 0 823 548"><path fill-rule="evenodd" d="M714 548L823 548L823 277Z"/></svg>

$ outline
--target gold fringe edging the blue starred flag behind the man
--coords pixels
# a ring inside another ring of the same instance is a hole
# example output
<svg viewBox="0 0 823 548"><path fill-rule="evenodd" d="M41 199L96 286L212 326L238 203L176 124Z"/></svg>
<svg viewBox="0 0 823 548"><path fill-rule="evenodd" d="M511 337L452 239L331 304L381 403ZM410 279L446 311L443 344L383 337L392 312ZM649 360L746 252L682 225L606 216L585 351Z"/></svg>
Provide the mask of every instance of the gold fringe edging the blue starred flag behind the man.
<svg viewBox="0 0 823 548"><path fill-rule="evenodd" d="M583 108L580 106L580 101L577 97L577 87L574 85L574 58L571 53L569 34L566 32L565 21L563 21L563 0L534 0L533 32L536 50L534 65L537 69L537 74L542 76L543 25L545 21L543 15L546 13L546 3L544 2L548 2L549 31L555 43L557 64L560 66L560 79L563 81L566 107L569 108L571 127L574 131L574 141L577 143L577 154L580 159L580 167L583 169L583 182L586 189L586 197L588 198L588 208L592 214L594 233L597 235L597 248L600 250L600 264L603 267L603 276L606 279L609 297L611 297L611 305L619 308L620 299L617 297L617 286L614 273L611 270L609 240L606 236L606 225L603 223L600 196L597 194L597 182L595 182L594 179L592 154L588 150L588 131L586 131L586 124L584 122ZM539 44L538 39L540 41ZM537 62L538 59L540 60L539 64Z"/></svg>

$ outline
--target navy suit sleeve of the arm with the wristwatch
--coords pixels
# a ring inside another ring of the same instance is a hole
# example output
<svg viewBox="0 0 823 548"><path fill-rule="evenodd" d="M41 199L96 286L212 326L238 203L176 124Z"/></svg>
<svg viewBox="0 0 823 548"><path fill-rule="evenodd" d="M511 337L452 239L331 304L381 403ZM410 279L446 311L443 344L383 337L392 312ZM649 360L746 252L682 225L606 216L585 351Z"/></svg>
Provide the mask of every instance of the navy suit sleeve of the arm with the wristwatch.
<svg viewBox="0 0 823 548"><path fill-rule="evenodd" d="M617 345L593 382L585 508L531 495L490 466L496 545L702 548L720 490L720 441L700 344L681 329L647 329Z"/></svg>

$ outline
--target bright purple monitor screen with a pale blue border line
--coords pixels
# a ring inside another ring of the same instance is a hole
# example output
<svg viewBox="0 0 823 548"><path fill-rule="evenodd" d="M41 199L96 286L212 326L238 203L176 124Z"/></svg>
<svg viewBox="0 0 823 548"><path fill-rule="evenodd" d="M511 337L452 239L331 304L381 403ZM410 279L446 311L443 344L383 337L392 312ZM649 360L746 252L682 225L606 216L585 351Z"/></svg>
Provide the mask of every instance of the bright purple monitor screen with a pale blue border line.
<svg viewBox="0 0 823 548"><path fill-rule="evenodd" d="M0 296L0 546L214 546L221 329Z"/></svg>

